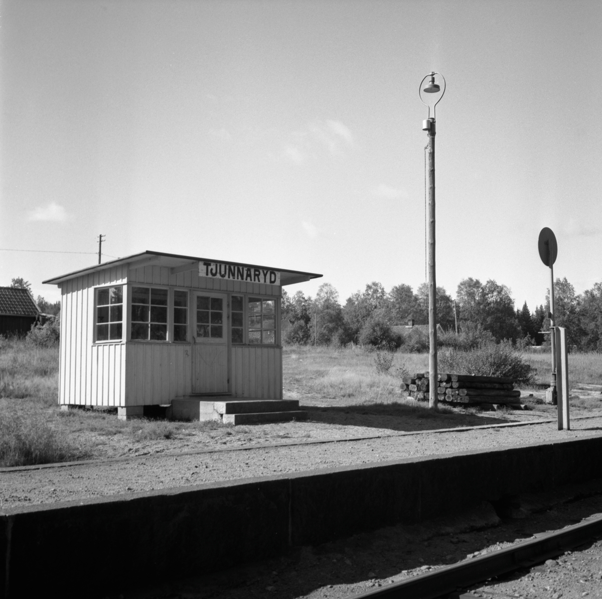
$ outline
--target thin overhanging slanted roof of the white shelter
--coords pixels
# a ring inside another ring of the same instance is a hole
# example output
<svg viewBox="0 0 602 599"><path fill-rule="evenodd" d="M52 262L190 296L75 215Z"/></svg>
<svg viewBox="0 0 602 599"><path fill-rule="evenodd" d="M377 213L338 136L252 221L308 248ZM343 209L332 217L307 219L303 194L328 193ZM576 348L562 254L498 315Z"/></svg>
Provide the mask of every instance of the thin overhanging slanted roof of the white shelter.
<svg viewBox="0 0 602 599"><path fill-rule="evenodd" d="M275 266L260 266L257 264L246 264L242 262L231 262L229 260L215 260L210 258L199 258L195 256L180 256L179 254L165 254L164 252L155 252L146 250L140 254L132 254L124 258L110 260L88 268L82 268L79 271L69 272L66 275L60 275L43 281L43 283L60 284L63 281L82 275L92 274L93 272L104 271L115 266L129 265L129 268L141 268L142 266L167 266L175 272L184 272L185 270L194 270L199 268L199 262L218 262L220 264L249 266L250 268L262 268L280 272L281 285L292 285L293 283L302 283L312 278L319 278L322 275L314 272L291 271L285 268L276 268Z"/></svg>

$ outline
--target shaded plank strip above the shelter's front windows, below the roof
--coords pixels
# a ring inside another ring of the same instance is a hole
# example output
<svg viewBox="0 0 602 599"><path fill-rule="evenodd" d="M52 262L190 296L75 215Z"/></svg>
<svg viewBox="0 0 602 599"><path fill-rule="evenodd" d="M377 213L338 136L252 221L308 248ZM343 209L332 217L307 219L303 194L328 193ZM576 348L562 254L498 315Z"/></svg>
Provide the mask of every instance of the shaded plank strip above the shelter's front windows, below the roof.
<svg viewBox="0 0 602 599"><path fill-rule="evenodd" d="M199 277L199 270L197 268L172 275L170 269L166 266L144 266L142 268L131 269L128 274L128 281L130 283L208 289L225 293L256 293L257 295L273 295L277 297L281 295L279 285L244 283L243 281Z"/></svg>

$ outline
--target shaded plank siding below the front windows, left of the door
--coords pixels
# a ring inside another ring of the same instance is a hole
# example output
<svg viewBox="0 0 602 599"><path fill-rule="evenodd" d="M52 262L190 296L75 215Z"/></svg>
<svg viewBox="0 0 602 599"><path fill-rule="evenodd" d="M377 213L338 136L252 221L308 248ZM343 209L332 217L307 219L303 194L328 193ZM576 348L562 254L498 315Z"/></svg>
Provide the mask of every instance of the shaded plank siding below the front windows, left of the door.
<svg viewBox="0 0 602 599"><path fill-rule="evenodd" d="M168 404L190 395L190 345L131 342L125 354L128 406Z"/></svg>

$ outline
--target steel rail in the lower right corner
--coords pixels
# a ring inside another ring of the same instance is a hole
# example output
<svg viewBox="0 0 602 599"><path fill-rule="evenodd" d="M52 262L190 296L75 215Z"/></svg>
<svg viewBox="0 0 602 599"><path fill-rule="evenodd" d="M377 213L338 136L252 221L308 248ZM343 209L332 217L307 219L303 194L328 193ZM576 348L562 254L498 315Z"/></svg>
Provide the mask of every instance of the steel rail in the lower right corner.
<svg viewBox="0 0 602 599"><path fill-rule="evenodd" d="M602 517L586 518L562 530L545 533L484 556L414 576L349 599L436 599L519 568L529 568L602 536Z"/></svg>

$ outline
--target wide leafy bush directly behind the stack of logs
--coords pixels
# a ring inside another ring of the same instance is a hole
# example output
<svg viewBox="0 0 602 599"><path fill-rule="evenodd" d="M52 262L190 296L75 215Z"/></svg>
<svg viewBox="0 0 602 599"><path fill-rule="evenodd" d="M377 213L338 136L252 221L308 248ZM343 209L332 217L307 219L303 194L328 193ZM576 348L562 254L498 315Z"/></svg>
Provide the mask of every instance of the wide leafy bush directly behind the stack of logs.
<svg viewBox="0 0 602 599"><path fill-rule="evenodd" d="M531 366L512 347L509 341L486 343L479 348L463 351L444 348L439 351L439 372L474 374L484 377L508 377L515 383L533 381Z"/></svg>

